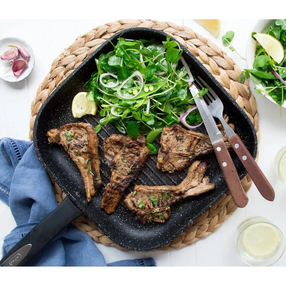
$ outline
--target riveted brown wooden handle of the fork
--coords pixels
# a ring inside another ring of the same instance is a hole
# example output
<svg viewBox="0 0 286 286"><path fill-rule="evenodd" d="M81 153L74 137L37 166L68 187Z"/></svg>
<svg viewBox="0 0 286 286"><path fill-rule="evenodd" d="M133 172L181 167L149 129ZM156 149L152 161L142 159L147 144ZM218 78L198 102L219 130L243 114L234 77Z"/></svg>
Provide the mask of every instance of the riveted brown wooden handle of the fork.
<svg viewBox="0 0 286 286"><path fill-rule="evenodd" d="M247 173L253 180L255 186L259 190L260 194L263 196L263 198L266 198L267 200L273 201L275 198L274 190L261 171L261 169L258 167L257 163L239 138L237 134L229 138L229 142L231 146L233 147L233 150L239 157L239 160L241 160L245 170L247 170Z"/></svg>

